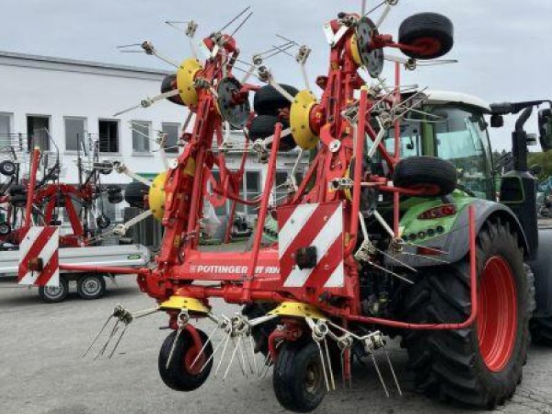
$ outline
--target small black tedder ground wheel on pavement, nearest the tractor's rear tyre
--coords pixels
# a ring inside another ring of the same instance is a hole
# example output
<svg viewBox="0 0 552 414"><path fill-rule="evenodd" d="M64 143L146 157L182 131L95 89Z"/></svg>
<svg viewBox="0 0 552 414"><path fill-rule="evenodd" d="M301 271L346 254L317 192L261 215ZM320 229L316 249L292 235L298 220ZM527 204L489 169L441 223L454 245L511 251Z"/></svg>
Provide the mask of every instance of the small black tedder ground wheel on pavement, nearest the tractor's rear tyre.
<svg viewBox="0 0 552 414"><path fill-rule="evenodd" d="M284 344L276 360L273 386L286 410L308 413L319 406L326 395L326 382L314 342Z"/></svg>

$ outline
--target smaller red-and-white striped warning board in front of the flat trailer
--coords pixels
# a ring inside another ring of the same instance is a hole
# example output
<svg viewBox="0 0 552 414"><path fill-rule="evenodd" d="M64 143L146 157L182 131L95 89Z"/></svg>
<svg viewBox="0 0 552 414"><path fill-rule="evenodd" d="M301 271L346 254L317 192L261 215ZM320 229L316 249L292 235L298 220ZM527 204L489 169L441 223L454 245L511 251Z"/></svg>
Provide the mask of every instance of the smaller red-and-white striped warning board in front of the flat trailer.
<svg viewBox="0 0 552 414"><path fill-rule="evenodd" d="M59 286L59 230L56 226L30 227L19 244L21 285Z"/></svg>

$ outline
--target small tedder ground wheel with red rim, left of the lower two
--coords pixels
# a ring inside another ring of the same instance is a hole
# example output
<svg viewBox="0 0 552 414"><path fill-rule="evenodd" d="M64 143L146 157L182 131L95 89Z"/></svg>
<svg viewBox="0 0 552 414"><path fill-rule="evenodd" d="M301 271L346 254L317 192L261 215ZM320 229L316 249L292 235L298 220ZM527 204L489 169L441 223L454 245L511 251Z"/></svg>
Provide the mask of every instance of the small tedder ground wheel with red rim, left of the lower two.
<svg viewBox="0 0 552 414"><path fill-rule="evenodd" d="M203 346L208 337L199 329L197 329L197 333L199 333L201 346ZM176 331L172 332L166 337L161 346L159 359L157 360L159 375L161 375L161 380L163 380L166 386L175 391L194 391L203 385L209 377L211 368L213 367L213 359L210 358L211 355L213 355L213 346L209 342L203 351L203 355L193 364L201 348L196 348L192 335L188 330L184 329L177 339L175 351L172 353L172 358L167 368L166 365L170 349L172 348L172 343L175 341L176 336ZM201 368L207 360L209 360L208 364L203 371L201 371Z"/></svg>

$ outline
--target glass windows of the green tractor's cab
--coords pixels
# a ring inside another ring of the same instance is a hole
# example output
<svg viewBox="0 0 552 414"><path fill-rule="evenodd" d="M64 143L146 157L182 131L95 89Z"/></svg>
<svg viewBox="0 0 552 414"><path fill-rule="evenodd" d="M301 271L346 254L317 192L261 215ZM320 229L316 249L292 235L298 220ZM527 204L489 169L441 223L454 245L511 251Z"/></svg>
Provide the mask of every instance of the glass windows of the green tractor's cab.
<svg viewBox="0 0 552 414"><path fill-rule="evenodd" d="M425 108L433 117L420 115L401 124L402 158L428 155L448 159L458 170L458 184L477 197L493 199L491 154L486 124L481 114L453 106ZM386 148L395 152L391 129Z"/></svg>

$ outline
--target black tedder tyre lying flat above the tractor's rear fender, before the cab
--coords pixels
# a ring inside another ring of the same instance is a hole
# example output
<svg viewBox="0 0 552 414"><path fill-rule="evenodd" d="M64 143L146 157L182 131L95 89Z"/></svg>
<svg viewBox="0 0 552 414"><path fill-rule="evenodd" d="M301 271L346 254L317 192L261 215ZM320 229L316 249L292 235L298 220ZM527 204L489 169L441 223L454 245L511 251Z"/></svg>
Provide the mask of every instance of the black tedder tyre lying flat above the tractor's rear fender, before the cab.
<svg viewBox="0 0 552 414"><path fill-rule="evenodd" d="M447 195L458 181L456 167L451 161L435 157L409 157L395 166L393 184L413 190L427 190L428 195Z"/></svg>

